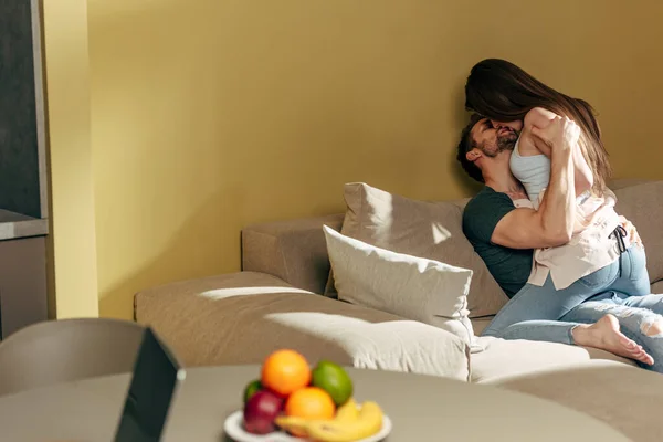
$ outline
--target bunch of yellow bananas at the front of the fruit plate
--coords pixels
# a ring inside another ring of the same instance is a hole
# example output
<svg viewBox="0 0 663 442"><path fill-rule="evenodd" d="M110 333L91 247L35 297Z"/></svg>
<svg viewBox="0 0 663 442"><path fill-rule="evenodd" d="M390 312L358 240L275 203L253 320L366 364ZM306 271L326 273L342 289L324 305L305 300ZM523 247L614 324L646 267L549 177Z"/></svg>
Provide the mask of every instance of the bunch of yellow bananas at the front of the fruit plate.
<svg viewBox="0 0 663 442"><path fill-rule="evenodd" d="M382 428L382 409L376 402L366 401L357 410L355 401L348 400L347 409L339 408L338 411L332 420L278 417L276 424L322 442L357 441L376 434Z"/></svg>

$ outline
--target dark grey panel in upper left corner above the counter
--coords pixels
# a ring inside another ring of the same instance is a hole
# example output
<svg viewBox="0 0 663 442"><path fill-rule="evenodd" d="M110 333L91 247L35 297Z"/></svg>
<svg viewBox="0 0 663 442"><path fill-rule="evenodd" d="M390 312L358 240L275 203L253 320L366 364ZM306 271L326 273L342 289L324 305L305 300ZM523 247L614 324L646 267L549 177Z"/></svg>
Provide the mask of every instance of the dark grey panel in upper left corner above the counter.
<svg viewBox="0 0 663 442"><path fill-rule="evenodd" d="M41 0L0 0L0 222L49 218L42 48Z"/></svg>

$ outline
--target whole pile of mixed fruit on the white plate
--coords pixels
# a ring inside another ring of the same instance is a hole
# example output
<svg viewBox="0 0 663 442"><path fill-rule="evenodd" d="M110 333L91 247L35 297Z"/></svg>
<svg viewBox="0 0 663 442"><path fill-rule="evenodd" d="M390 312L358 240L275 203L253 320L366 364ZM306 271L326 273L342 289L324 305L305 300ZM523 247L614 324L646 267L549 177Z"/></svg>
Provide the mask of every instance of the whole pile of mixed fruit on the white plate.
<svg viewBox="0 0 663 442"><path fill-rule="evenodd" d="M382 429L382 410L372 401L358 404L354 385L339 365L320 360L312 369L292 349L269 355L260 379L244 387L243 427L253 434L277 429L317 442L349 442Z"/></svg>

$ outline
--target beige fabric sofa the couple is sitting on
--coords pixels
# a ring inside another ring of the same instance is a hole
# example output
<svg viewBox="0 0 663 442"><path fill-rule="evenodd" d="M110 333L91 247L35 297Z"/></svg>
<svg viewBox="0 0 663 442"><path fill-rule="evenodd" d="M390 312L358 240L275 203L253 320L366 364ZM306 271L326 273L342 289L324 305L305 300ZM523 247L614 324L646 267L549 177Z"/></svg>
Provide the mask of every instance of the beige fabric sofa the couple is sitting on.
<svg viewBox="0 0 663 442"><path fill-rule="evenodd" d="M648 251L661 250L663 182L620 180L611 188L618 210L639 227ZM473 352L440 328L319 295L329 275L322 227L340 230L343 222L344 214L333 214L249 227L242 231L242 272L138 293L136 319L155 327L188 365L259 364L270 351L288 347L312 361L330 358L497 385L583 411L633 440L663 440L663 376L627 359L495 338L480 338L483 350ZM652 292L663 293L663 260L652 256L648 265L656 278ZM475 334L490 320L472 318ZM560 423L560 431L572 429Z"/></svg>

